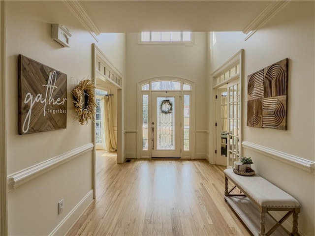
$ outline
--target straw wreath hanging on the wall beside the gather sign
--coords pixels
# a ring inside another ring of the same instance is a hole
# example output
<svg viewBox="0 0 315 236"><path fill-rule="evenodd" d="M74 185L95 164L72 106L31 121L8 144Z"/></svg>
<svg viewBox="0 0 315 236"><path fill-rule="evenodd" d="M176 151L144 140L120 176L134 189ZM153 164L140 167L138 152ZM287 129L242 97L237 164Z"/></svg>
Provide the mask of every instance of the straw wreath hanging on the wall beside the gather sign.
<svg viewBox="0 0 315 236"><path fill-rule="evenodd" d="M92 80L82 80L73 90L74 110L78 114L80 124L87 124L95 117L95 83Z"/></svg>

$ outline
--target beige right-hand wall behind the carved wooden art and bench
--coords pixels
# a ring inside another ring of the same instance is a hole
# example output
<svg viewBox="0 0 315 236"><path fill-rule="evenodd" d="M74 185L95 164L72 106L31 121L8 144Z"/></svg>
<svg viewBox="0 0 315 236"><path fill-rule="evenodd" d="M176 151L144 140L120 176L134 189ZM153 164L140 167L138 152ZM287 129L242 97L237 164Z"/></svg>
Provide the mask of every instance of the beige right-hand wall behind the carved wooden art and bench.
<svg viewBox="0 0 315 236"><path fill-rule="evenodd" d="M245 49L243 87L243 140L272 148L314 163L315 161L315 5L314 1L290 1L247 41L241 32L216 32L211 49L212 71ZM289 59L288 130L246 126L247 76L279 60ZM315 235L315 176L256 151L251 156L253 169L293 195L302 205L299 231Z"/></svg>

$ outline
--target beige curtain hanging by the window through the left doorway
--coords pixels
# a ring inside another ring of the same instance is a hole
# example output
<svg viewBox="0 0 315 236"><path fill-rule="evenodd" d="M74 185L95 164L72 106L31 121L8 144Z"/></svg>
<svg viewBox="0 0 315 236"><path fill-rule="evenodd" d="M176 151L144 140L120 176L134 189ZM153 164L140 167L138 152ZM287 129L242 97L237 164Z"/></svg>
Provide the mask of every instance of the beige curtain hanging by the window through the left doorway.
<svg viewBox="0 0 315 236"><path fill-rule="evenodd" d="M103 148L105 151L117 150L113 127L112 102L110 96L104 96L104 116L103 116L103 130L105 139L103 140Z"/></svg>

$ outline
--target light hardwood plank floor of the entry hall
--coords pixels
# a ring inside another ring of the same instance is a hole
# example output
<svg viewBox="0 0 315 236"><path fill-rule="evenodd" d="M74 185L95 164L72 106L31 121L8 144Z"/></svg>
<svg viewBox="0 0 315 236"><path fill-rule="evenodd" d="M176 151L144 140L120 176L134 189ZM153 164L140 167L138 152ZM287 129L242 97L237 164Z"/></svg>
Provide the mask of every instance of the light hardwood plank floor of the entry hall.
<svg viewBox="0 0 315 236"><path fill-rule="evenodd" d="M68 236L249 236L224 202L224 167L205 160L116 164L97 151L97 196Z"/></svg>

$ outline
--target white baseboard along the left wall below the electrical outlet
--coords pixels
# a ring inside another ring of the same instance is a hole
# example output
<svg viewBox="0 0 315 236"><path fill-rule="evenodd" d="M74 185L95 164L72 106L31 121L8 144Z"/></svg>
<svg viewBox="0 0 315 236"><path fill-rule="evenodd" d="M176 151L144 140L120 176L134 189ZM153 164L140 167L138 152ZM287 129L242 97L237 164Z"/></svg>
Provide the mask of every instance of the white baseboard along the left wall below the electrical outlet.
<svg viewBox="0 0 315 236"><path fill-rule="evenodd" d="M63 218L49 236L65 235L93 201L93 189Z"/></svg>

